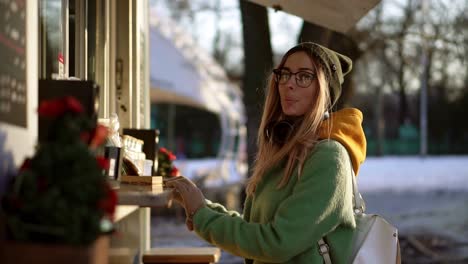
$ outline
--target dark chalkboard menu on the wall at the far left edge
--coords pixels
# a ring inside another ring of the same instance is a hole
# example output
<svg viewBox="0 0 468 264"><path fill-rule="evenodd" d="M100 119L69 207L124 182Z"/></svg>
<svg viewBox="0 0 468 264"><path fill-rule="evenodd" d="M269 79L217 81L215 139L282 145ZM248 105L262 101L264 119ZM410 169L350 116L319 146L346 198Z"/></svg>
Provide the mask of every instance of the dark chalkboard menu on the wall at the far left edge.
<svg viewBox="0 0 468 264"><path fill-rule="evenodd" d="M0 0L0 122L26 127L26 0Z"/></svg>

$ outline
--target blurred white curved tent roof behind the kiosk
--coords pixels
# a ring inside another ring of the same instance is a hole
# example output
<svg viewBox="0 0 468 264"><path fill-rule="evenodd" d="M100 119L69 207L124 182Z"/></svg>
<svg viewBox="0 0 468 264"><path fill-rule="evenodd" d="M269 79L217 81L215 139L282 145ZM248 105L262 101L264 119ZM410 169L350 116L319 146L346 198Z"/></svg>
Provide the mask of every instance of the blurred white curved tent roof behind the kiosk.
<svg viewBox="0 0 468 264"><path fill-rule="evenodd" d="M168 18L150 16L151 101L199 107L244 121L242 92L192 37Z"/></svg>

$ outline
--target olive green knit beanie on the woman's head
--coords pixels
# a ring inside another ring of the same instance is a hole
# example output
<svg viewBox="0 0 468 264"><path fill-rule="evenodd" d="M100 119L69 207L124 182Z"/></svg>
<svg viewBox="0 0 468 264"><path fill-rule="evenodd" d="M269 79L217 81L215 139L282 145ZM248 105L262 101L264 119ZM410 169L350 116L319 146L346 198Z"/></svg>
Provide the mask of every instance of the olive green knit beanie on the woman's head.
<svg viewBox="0 0 468 264"><path fill-rule="evenodd" d="M353 61L336 51L313 42L300 43L288 50L284 56L288 57L298 51L304 51L311 55L322 68L330 87L330 107L333 107L340 98L341 84L343 84L344 76L353 68Z"/></svg>

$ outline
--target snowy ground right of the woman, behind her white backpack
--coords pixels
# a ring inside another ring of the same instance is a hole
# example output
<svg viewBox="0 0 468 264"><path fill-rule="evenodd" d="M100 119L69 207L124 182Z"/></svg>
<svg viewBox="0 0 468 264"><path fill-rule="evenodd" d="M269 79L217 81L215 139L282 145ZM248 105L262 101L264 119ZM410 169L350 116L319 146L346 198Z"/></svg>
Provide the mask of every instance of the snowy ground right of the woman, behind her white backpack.
<svg viewBox="0 0 468 264"><path fill-rule="evenodd" d="M468 240L468 156L367 158L358 186L367 213L383 215L400 233Z"/></svg>

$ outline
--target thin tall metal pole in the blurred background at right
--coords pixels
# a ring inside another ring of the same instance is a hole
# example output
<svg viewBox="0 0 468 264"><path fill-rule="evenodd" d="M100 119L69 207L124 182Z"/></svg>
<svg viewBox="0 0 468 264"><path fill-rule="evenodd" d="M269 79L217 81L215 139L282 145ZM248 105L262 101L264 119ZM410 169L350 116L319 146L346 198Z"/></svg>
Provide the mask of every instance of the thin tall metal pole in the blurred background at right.
<svg viewBox="0 0 468 264"><path fill-rule="evenodd" d="M420 93L420 155L425 157L427 155L427 38L425 31L425 18L427 16L428 10L428 0L421 2L421 11L422 11L422 25L421 25L421 35L422 35L422 49L421 49L421 93Z"/></svg>

